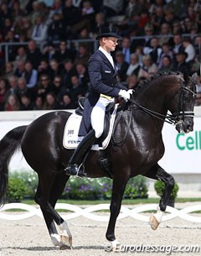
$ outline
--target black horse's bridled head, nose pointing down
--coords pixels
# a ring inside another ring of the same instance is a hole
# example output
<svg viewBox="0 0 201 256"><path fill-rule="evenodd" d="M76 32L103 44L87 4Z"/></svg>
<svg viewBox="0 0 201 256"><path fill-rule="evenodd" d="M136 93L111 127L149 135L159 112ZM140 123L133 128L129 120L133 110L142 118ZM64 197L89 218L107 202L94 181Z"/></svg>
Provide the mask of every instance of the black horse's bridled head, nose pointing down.
<svg viewBox="0 0 201 256"><path fill-rule="evenodd" d="M178 133L193 131L193 108L196 98L196 86L193 76L183 75L181 87L176 95L175 111L172 111Z"/></svg>

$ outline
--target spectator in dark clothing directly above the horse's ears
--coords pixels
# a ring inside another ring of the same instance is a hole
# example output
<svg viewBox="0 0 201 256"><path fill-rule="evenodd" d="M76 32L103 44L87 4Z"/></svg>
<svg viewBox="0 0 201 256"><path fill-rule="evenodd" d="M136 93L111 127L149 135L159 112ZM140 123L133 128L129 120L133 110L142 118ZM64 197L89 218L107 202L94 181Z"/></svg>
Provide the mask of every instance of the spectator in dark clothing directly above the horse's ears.
<svg viewBox="0 0 201 256"><path fill-rule="evenodd" d="M186 62L187 53L180 51L176 54L176 63L173 65L173 71L179 71L182 73L190 73L189 64Z"/></svg>

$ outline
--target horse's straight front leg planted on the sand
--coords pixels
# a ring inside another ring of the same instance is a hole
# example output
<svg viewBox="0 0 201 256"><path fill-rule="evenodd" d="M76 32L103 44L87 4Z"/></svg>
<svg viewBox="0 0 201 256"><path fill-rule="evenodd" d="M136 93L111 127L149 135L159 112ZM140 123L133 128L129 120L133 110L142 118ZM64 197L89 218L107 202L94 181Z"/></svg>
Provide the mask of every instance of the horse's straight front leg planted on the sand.
<svg viewBox="0 0 201 256"><path fill-rule="evenodd" d="M123 171L121 173L124 173ZM126 188L128 178L122 176L115 176L112 186L112 196L111 196L111 217L108 223L106 238L111 243L111 250L116 248L115 227L116 218L118 217L121 210L121 201Z"/></svg>

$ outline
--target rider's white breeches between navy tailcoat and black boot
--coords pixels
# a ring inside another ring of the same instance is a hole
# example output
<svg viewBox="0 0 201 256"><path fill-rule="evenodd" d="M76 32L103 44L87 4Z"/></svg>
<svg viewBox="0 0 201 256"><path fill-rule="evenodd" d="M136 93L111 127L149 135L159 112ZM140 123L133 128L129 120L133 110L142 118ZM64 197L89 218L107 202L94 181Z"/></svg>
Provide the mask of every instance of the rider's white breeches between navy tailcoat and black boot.
<svg viewBox="0 0 201 256"><path fill-rule="evenodd" d="M114 98L109 100L106 97L100 97L95 107L93 107L90 115L90 123L95 130L95 138L100 138L103 133L106 107L111 102L114 102Z"/></svg>

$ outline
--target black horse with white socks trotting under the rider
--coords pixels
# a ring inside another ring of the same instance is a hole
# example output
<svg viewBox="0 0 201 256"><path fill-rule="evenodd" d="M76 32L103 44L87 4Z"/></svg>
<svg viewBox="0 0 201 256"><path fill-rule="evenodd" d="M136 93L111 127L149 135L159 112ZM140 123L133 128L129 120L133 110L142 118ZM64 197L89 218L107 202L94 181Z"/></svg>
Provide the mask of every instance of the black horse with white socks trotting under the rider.
<svg viewBox="0 0 201 256"><path fill-rule="evenodd" d="M159 203L164 212L174 186L174 179L157 164L164 153L162 127L176 125L178 132L193 131L193 107L196 89L192 77L181 73L163 73L139 86L130 102L122 102L112 141L106 156L111 162L113 187L111 217L106 238L116 244L116 218L127 181L136 175L162 180L166 187ZM168 111L171 114L168 114ZM64 125L70 112L55 111L44 114L28 126L13 128L0 141L0 200L3 203L8 186L8 164L15 150L21 146L24 158L39 175L35 201L39 204L55 246L67 248L72 236L67 223L54 210L69 176L64 174L73 150L64 149ZM85 163L89 177L103 177L106 173L97 165L98 151L90 151ZM158 216L156 216L158 221ZM155 221L156 221L155 219ZM59 236L54 222L62 231ZM159 222L159 221L158 221Z"/></svg>

